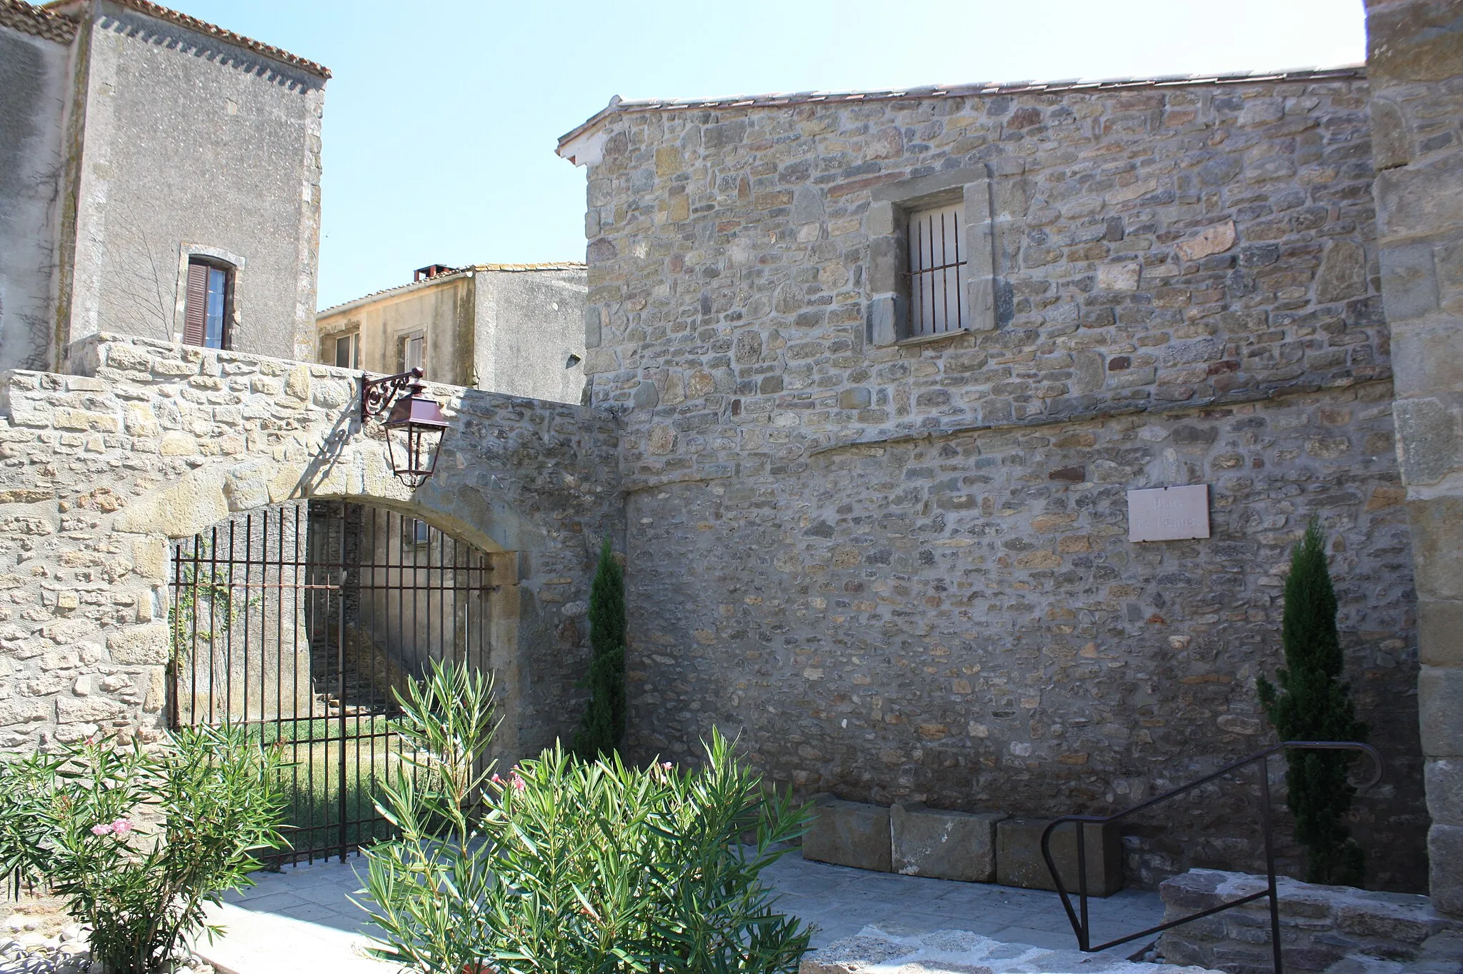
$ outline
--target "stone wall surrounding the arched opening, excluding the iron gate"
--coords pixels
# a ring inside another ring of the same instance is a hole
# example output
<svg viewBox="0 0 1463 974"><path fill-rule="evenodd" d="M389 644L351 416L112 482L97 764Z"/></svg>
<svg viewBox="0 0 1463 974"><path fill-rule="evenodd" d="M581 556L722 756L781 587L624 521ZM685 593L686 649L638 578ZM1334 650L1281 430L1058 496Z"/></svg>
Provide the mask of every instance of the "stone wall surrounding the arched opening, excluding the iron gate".
<svg viewBox="0 0 1463 974"><path fill-rule="evenodd" d="M594 556L622 531L612 417L433 386L452 427L413 493L353 426L356 373L107 335L72 352L80 374L0 386L0 749L155 734L168 540L301 497L401 510L489 551L516 595L516 642L494 648L500 746L516 758L572 728Z"/></svg>

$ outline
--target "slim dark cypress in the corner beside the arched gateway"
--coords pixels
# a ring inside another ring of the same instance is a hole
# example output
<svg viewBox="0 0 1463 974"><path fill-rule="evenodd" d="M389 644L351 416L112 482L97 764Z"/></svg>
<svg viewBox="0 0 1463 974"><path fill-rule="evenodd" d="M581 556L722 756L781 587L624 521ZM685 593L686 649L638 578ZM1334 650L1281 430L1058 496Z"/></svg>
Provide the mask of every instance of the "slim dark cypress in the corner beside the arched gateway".
<svg viewBox="0 0 1463 974"><path fill-rule="evenodd" d="M594 760L625 739L625 572L609 537L590 586L590 705L573 736L573 752Z"/></svg>

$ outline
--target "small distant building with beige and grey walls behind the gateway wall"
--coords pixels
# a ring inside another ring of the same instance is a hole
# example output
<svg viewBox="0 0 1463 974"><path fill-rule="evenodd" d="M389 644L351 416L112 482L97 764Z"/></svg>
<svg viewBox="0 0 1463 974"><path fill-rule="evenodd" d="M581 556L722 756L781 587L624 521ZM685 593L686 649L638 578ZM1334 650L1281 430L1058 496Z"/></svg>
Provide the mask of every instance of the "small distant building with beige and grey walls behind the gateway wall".
<svg viewBox="0 0 1463 974"><path fill-rule="evenodd" d="M316 316L319 361L515 396L579 402L584 265L432 265L411 284Z"/></svg>

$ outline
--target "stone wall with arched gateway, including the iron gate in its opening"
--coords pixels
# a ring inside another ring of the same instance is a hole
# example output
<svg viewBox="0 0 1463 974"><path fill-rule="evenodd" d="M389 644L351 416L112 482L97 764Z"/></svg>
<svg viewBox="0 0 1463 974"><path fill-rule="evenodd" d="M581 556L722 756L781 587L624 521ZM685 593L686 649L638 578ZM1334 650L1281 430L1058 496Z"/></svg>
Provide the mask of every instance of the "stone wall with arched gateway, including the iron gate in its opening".
<svg viewBox="0 0 1463 974"><path fill-rule="evenodd" d="M493 670L502 760L572 730L614 417L433 386L449 429L408 488L358 371L116 335L69 367L0 376L0 749L243 720L291 747L319 856L376 828L356 785L433 657Z"/></svg>

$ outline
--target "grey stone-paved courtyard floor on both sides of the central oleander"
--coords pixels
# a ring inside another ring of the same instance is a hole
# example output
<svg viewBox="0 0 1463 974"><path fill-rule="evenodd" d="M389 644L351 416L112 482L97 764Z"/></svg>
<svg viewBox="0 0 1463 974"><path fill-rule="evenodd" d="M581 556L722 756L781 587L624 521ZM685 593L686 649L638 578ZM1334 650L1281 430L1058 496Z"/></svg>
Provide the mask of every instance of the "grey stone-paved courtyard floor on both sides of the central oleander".
<svg viewBox="0 0 1463 974"><path fill-rule="evenodd" d="M350 948L341 945L364 940L367 930L364 911L350 901L350 896L363 899L357 891L364 885L361 882L364 873L366 861L360 857L345 863L291 866L279 873L256 873L257 885L253 889L225 898L230 911L221 921L230 932L224 943L234 954L228 955L233 958L231 965L225 964L222 970L234 974L255 974L265 970L309 970L312 974L334 974L336 970L341 974L354 974L357 970L361 974L391 971L392 965L379 961L369 961L375 965L370 968L335 968L313 959L307 968L262 965L269 958L275 958L272 962L279 964L279 956L290 956L290 949L278 945L294 939L309 945L335 945L332 949L345 951L342 956L350 961ZM1021 943L1030 949L1074 951L1077 946L1077 937L1062 913L1061 899L1053 892L872 873L809 861L796 850L768 867L762 876L781 896L783 910L818 927L812 936L815 949L856 936L870 926L894 937L960 930L992 940ZM1099 939L1151 927L1163 918L1163 904L1157 894L1137 889L1094 899L1090 910ZM260 921L265 926L241 923L249 914L272 920ZM341 940L334 935L344 935L345 939ZM260 965L250 967L249 942L256 939L262 939L265 946L260 949L268 948L271 954L259 962ZM1112 964L1132 956L1146 943L1147 940L1125 943L1087 956L1093 958L1091 964ZM209 959L214 958L206 946L199 952ZM1096 968L1088 965L1074 970Z"/></svg>

